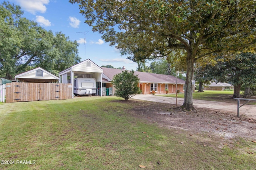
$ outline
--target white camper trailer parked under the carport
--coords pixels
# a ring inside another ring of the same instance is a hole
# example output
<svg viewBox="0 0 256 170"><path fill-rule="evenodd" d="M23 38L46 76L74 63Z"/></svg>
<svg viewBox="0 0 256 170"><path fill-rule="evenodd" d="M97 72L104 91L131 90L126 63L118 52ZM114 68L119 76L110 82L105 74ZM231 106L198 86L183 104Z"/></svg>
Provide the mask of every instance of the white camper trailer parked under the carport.
<svg viewBox="0 0 256 170"><path fill-rule="evenodd" d="M74 78L74 94L92 95L96 94L95 78Z"/></svg>

